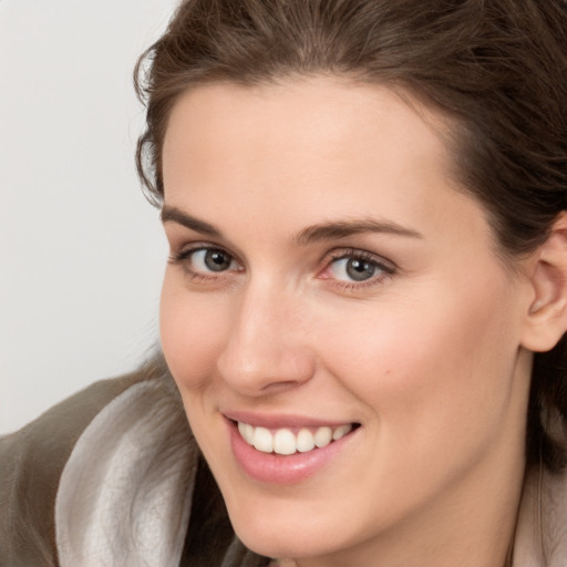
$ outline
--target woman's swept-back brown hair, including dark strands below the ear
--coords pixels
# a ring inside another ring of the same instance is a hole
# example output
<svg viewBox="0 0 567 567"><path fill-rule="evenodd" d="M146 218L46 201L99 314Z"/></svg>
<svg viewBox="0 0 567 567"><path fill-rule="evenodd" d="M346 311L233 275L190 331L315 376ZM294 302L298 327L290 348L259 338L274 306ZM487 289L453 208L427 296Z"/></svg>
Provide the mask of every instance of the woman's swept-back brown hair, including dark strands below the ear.
<svg viewBox="0 0 567 567"><path fill-rule="evenodd" d="M567 208L565 0L188 0L140 59L147 128L137 167L161 204L162 145L181 93L331 73L409 92L451 117L461 184L501 252L533 251ZM565 339L535 355L528 462L567 463L544 425L567 423Z"/></svg>

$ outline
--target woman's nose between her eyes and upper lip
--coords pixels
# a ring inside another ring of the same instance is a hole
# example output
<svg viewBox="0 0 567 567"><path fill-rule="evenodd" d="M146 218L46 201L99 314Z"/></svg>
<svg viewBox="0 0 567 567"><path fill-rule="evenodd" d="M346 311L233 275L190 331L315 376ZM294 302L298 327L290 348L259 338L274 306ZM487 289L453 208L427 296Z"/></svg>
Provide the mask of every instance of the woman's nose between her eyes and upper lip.
<svg viewBox="0 0 567 567"><path fill-rule="evenodd" d="M292 292L249 285L225 337L217 368L240 394L275 394L303 384L313 374L305 307Z"/></svg>

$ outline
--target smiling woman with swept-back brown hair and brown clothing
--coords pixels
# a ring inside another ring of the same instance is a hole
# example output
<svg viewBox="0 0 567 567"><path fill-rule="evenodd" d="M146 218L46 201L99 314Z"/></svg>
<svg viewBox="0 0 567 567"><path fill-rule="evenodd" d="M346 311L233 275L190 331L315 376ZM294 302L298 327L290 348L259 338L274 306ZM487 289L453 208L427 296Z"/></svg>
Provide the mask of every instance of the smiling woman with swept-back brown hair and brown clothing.
<svg viewBox="0 0 567 567"><path fill-rule="evenodd" d="M12 557L565 565L566 29L560 0L184 2L138 74L168 371L4 441Z"/></svg>

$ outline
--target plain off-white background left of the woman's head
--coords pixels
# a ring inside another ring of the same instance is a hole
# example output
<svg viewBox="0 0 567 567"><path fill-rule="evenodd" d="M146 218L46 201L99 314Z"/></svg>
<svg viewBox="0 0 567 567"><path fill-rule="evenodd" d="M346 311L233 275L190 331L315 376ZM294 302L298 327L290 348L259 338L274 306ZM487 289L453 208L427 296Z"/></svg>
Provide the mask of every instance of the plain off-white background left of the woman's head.
<svg viewBox="0 0 567 567"><path fill-rule="evenodd" d="M0 0L0 433L158 342L132 70L175 0Z"/></svg>

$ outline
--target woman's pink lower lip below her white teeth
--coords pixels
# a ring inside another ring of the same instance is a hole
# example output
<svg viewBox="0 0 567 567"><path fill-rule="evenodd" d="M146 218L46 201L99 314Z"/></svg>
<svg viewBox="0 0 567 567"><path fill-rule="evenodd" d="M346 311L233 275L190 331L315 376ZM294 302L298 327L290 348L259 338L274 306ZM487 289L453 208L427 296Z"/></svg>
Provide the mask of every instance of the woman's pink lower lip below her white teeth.
<svg viewBox="0 0 567 567"><path fill-rule="evenodd" d="M295 484L313 476L344 450L358 431L353 430L322 449L278 455L254 449L243 439L235 422L229 421L228 425L233 453L240 467L251 478L271 484Z"/></svg>

